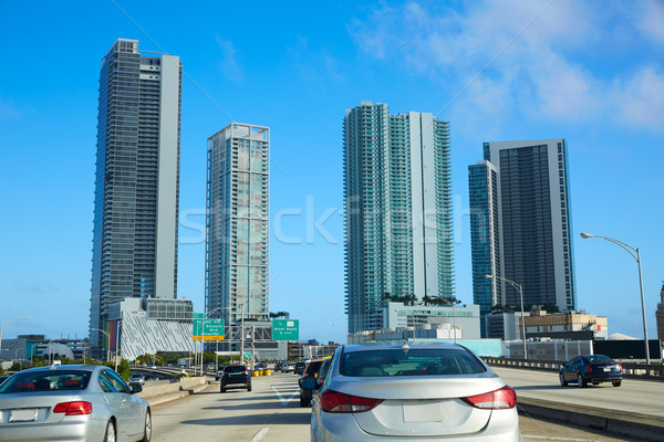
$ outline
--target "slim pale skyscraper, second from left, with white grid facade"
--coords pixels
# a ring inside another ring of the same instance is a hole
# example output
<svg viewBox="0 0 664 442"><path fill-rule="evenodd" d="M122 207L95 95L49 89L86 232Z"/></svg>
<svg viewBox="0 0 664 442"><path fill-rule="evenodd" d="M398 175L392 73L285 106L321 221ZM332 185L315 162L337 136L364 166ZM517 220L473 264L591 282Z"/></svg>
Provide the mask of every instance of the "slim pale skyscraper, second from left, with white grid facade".
<svg viewBox="0 0 664 442"><path fill-rule="evenodd" d="M206 312L267 320L270 129L232 123L207 155Z"/></svg>

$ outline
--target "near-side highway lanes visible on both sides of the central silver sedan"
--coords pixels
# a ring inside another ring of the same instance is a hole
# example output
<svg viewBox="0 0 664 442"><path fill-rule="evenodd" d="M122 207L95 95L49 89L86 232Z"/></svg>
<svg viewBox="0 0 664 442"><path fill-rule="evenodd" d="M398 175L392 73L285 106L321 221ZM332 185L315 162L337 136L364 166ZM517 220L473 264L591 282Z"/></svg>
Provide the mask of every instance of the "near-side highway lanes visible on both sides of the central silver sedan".
<svg viewBox="0 0 664 442"><path fill-rule="evenodd" d="M300 408L298 377L276 373L252 379L252 391L219 393L218 386L153 408L155 442L309 441L311 409ZM621 387L622 388L622 387ZM596 431L520 417L523 441L614 442Z"/></svg>

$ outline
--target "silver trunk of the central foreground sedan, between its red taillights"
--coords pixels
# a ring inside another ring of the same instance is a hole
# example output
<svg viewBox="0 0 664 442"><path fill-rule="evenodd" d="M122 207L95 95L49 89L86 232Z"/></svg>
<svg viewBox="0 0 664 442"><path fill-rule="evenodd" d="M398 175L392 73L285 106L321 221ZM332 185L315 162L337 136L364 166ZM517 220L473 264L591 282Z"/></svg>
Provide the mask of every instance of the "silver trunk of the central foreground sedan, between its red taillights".
<svg viewBox="0 0 664 442"><path fill-rule="evenodd" d="M404 378L381 381L360 378L362 382L344 382L349 394L383 399L374 409L353 413L360 428L375 435L433 436L463 435L479 432L491 418L491 410L477 409L461 398L497 390L504 383L494 377L470 375Z"/></svg>

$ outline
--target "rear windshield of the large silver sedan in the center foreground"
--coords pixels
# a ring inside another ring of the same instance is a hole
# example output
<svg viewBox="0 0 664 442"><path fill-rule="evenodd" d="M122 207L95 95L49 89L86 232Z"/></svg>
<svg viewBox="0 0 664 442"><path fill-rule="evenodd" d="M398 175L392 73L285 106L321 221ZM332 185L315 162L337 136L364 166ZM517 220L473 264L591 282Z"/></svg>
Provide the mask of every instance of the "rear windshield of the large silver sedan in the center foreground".
<svg viewBox="0 0 664 442"><path fill-rule="evenodd" d="M342 354L343 376L438 376L485 372L470 351L456 349L384 349Z"/></svg>

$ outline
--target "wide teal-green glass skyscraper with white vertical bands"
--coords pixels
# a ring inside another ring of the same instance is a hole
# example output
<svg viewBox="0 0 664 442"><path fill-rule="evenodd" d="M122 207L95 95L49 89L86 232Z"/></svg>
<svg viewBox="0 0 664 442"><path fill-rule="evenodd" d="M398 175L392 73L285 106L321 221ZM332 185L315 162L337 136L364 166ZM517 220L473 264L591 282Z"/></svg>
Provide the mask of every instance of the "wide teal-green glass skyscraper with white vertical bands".
<svg viewBox="0 0 664 442"><path fill-rule="evenodd" d="M349 332L384 326L386 299L454 296L449 124L362 102L344 118Z"/></svg>

